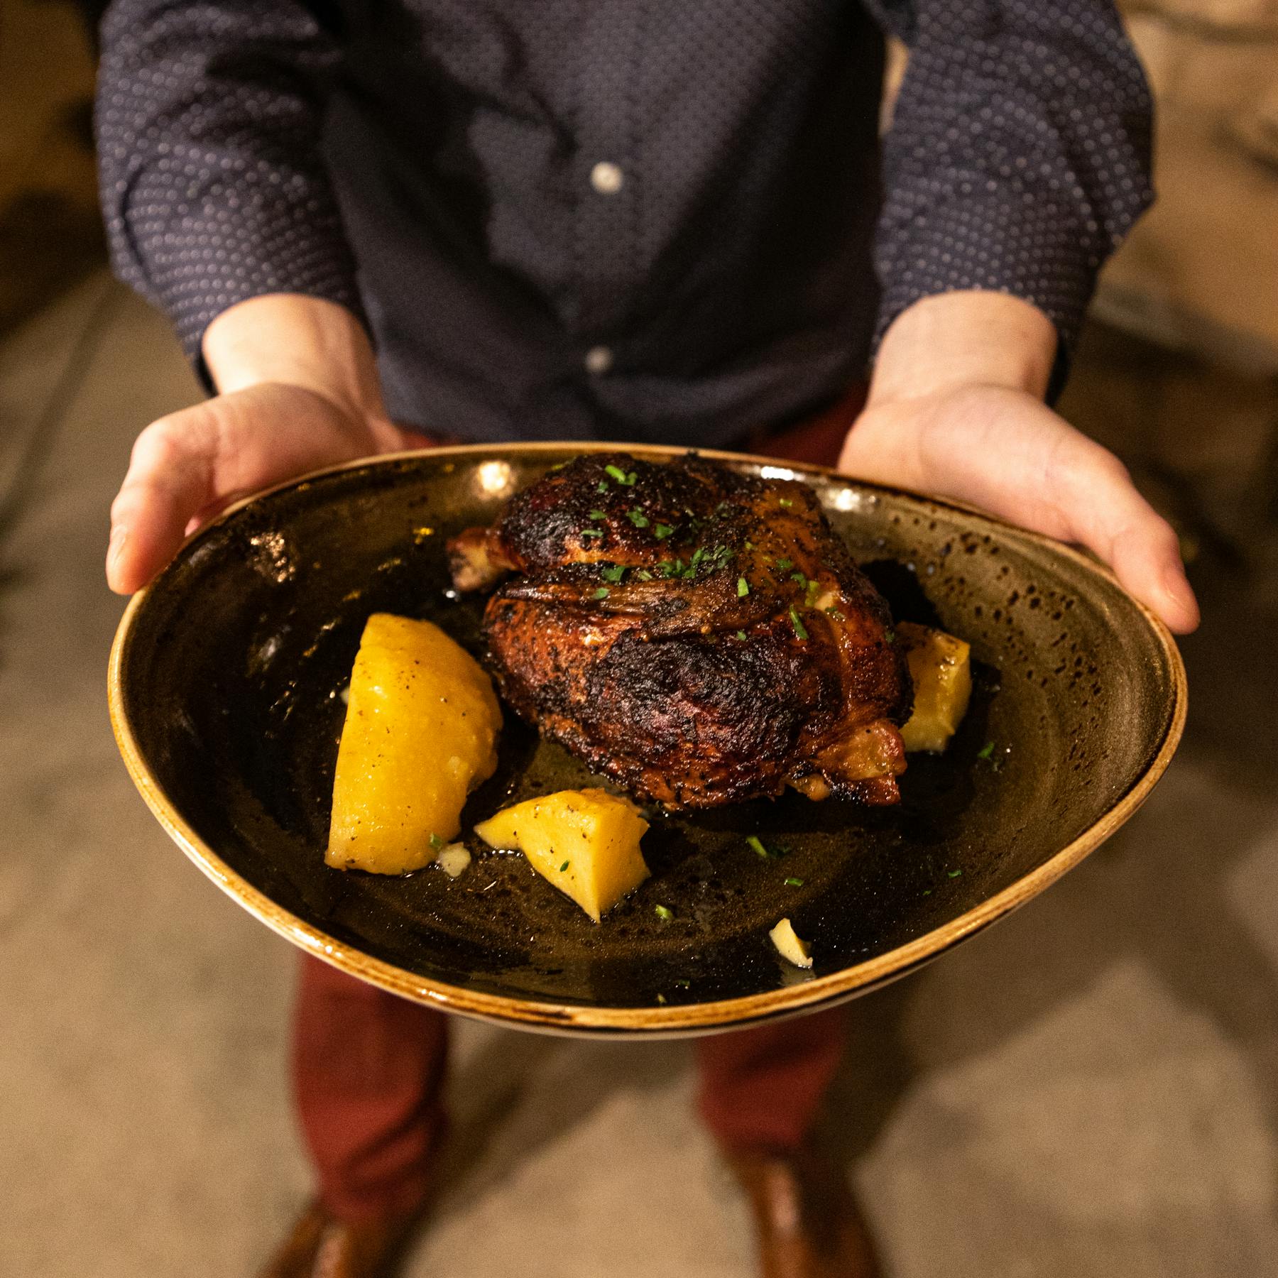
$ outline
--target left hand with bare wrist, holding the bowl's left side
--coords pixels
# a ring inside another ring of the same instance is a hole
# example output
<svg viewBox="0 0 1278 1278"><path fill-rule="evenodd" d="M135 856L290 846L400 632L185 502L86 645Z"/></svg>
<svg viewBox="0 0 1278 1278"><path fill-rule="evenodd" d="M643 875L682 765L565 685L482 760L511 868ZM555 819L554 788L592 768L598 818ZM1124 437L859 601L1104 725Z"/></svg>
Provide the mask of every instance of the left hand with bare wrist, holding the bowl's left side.
<svg viewBox="0 0 1278 1278"><path fill-rule="evenodd" d="M210 325L203 349L222 394L152 422L111 505L106 579L120 594L236 497L431 442L386 417L368 337L330 302L253 298Z"/></svg>

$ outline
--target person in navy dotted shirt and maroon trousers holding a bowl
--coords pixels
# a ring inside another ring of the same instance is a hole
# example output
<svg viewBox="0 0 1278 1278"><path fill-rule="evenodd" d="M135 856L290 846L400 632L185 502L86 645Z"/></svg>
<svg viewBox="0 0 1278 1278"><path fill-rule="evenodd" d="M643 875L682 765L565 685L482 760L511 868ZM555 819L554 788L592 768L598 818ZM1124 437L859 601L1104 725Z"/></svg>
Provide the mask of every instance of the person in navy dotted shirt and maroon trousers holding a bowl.
<svg viewBox="0 0 1278 1278"><path fill-rule="evenodd" d="M1150 199L1109 0L115 0L97 127L115 267L210 392L138 437L121 593L291 475L579 438L837 461L1082 543L1196 624L1172 529L1048 406ZM266 1273L387 1273L446 1020L308 960L295 1029L320 1192ZM843 1033L702 1040L771 1278L878 1272L810 1139Z"/></svg>

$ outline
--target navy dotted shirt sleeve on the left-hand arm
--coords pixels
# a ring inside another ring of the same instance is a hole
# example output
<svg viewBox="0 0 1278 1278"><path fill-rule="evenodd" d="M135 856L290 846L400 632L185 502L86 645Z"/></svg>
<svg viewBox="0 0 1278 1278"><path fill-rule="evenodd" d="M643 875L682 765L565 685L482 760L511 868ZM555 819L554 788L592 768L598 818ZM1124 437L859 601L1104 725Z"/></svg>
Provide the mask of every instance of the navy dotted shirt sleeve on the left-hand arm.
<svg viewBox="0 0 1278 1278"><path fill-rule="evenodd" d="M204 328L266 293L360 314L320 152L336 50L299 4L116 0L102 22L97 135L116 273L199 364Z"/></svg>

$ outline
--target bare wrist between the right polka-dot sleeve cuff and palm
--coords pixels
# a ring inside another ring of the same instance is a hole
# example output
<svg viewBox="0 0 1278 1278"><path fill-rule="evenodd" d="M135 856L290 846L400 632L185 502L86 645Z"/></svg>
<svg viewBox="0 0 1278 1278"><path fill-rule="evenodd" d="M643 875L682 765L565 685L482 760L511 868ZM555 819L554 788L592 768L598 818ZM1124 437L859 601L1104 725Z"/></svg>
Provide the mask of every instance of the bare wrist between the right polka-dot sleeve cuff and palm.
<svg viewBox="0 0 1278 1278"><path fill-rule="evenodd" d="M1042 399L1056 349L1056 326L1021 298L976 290L923 298L883 335L869 406L973 386Z"/></svg>

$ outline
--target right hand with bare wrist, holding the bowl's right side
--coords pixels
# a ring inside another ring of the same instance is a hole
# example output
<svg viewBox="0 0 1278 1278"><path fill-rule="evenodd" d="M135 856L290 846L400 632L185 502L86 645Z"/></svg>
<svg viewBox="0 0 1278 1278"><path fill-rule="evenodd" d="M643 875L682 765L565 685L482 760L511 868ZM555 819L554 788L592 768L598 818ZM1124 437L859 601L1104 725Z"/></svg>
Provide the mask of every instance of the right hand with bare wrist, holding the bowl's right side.
<svg viewBox="0 0 1278 1278"><path fill-rule="evenodd" d="M982 311L979 322L966 314L966 334L960 331L947 345L938 322L950 318L946 311L958 318L969 304ZM884 337L883 374L875 371L869 404L852 424L840 469L953 497L1048 537L1079 542L1104 560L1123 588L1171 630L1194 630L1197 602L1185 578L1176 533L1140 496L1112 452L1074 429L1039 397L1051 364L1051 355L1044 359L1042 354L1043 339L1049 335L1048 350L1056 341L1049 322L1026 303L997 294L951 294L916 303L911 311L918 308L932 312L921 327L906 311ZM1042 320L1047 335L1039 330L1034 337L1029 372L1005 367L987 381L990 369L964 369L960 348L971 344L967 335L975 334L982 344L994 341L1003 359L1016 345L1015 334L999 331L1003 316L1021 332L1039 328ZM898 330L902 321L906 328ZM902 340L893 344L893 335ZM915 369L914 376L905 372L907 367Z"/></svg>

